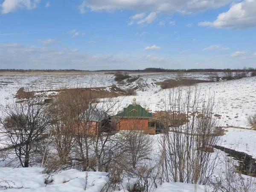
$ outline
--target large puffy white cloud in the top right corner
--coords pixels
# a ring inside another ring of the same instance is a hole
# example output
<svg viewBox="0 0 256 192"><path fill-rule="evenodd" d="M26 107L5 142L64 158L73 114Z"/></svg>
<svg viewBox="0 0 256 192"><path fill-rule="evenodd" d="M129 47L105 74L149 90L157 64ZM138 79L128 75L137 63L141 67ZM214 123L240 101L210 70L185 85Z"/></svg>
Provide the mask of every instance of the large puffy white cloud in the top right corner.
<svg viewBox="0 0 256 192"><path fill-rule="evenodd" d="M204 21L198 25L229 29L256 27L255 7L256 0L243 0L240 3L234 3L227 12L219 14L215 21Z"/></svg>

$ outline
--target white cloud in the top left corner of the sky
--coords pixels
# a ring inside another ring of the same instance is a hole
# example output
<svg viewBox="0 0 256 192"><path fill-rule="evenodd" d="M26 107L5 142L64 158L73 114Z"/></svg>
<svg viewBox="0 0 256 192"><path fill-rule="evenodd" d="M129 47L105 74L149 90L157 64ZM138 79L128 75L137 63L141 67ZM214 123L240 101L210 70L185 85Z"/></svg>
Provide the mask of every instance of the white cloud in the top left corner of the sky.
<svg viewBox="0 0 256 192"><path fill-rule="evenodd" d="M0 7L2 14L6 14L15 12L17 9L35 9L39 2L40 0L4 0Z"/></svg>

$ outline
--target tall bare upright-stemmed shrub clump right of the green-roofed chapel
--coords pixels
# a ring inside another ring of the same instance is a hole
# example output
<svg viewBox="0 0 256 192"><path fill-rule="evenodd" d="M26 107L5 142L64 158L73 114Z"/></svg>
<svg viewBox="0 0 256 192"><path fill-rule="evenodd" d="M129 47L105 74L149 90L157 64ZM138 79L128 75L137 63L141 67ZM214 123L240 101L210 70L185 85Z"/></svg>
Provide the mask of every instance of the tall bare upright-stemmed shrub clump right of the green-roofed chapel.
<svg viewBox="0 0 256 192"><path fill-rule="evenodd" d="M197 86L179 87L170 90L165 106L161 119L167 131L160 137L163 181L206 184L217 159L210 153L218 139L214 96L201 96Z"/></svg>

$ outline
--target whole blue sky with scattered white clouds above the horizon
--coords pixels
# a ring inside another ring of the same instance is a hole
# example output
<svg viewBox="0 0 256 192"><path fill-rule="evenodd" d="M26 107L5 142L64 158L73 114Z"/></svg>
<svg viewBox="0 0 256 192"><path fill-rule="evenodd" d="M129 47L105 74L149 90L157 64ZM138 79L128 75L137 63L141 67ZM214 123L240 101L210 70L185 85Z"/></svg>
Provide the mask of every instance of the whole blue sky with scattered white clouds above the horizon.
<svg viewBox="0 0 256 192"><path fill-rule="evenodd" d="M256 0L0 0L0 68L256 67Z"/></svg>

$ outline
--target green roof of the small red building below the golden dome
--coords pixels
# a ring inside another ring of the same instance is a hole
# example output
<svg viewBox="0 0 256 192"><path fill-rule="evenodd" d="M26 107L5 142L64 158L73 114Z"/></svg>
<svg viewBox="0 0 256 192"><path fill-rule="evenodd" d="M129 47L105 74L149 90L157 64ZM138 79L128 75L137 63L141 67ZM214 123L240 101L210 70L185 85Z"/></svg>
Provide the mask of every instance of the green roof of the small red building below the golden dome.
<svg viewBox="0 0 256 192"><path fill-rule="evenodd" d="M124 108L121 113L116 115L117 117L143 117L143 118L152 118L152 113L149 113L145 108L140 105L129 105L127 108Z"/></svg>

